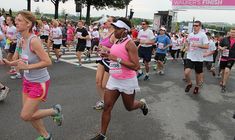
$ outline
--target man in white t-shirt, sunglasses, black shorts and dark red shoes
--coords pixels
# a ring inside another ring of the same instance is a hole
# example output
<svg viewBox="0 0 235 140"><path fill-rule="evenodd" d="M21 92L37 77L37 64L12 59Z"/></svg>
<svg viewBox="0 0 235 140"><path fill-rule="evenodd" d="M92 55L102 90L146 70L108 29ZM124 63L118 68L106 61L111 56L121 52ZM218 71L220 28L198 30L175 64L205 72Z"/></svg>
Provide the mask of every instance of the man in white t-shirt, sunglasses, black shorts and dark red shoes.
<svg viewBox="0 0 235 140"><path fill-rule="evenodd" d="M201 31L201 26L200 21L195 21L193 24L193 32L189 34L187 40L188 53L184 71L187 81L185 92L189 92L192 88L191 71L195 69L196 86L193 90L194 94L199 93L201 73L203 72L203 53L205 49L209 48L208 38L206 34Z"/></svg>

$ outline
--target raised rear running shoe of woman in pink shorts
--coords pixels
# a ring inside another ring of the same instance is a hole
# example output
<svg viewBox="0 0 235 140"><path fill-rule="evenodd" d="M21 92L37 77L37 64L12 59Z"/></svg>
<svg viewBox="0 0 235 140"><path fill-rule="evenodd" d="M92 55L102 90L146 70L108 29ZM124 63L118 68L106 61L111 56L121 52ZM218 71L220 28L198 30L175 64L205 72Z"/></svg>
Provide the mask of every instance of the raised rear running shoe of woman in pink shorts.
<svg viewBox="0 0 235 140"><path fill-rule="evenodd" d="M63 121L62 107L60 104L56 104L53 106L53 109L56 111L56 114L52 115L52 119L58 126L61 126Z"/></svg>

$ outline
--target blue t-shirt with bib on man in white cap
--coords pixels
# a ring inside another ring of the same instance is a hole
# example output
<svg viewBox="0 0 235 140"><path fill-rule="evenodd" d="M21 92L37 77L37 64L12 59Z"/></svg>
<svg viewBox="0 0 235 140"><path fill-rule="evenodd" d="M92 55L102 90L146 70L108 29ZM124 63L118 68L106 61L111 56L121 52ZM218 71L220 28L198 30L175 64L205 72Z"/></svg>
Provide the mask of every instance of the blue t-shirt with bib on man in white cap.
<svg viewBox="0 0 235 140"><path fill-rule="evenodd" d="M157 43L156 53L166 54L168 49L163 49L163 47L166 47L171 43L170 38L167 35L158 35L155 42Z"/></svg>

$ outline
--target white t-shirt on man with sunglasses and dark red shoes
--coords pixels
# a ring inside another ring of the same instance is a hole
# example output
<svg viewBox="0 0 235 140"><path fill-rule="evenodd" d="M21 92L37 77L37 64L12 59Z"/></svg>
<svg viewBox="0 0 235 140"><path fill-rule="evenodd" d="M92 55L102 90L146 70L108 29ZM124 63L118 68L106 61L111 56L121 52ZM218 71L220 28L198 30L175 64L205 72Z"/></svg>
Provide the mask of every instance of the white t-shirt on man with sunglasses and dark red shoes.
<svg viewBox="0 0 235 140"><path fill-rule="evenodd" d="M188 42L189 42L189 49L187 53L187 59L190 59L191 61L203 62L204 61L203 54L205 49L199 47L192 47L192 44L193 43L199 45L209 44L206 34L204 32L199 32L197 34L194 34L192 32L188 36Z"/></svg>

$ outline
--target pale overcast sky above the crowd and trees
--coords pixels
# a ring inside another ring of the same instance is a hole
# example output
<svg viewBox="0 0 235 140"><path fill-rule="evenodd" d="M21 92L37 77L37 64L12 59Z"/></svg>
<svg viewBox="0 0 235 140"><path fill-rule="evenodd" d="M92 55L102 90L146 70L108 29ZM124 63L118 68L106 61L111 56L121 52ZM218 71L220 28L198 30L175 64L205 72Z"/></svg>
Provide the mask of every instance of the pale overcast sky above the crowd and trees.
<svg viewBox="0 0 235 140"><path fill-rule="evenodd" d="M47 0L45 2L35 3L32 0L32 11L35 11L37 7L40 8L42 13L54 13L53 4ZM0 0L0 7L13 10L26 9L26 0ZM152 19L153 15L157 11L170 10L171 2L169 0L132 0L129 8L134 9L134 17ZM60 4L59 12L65 9L67 13L75 13L74 0L68 0L65 4ZM83 16L85 16L86 9L83 9ZM91 10L91 16L100 16L102 14L113 16L125 16L125 10L100 10L96 11L94 8ZM192 20L195 17L197 20L203 22L228 22L235 23L235 9L234 10L187 10L178 12L178 21Z"/></svg>

